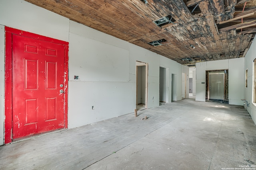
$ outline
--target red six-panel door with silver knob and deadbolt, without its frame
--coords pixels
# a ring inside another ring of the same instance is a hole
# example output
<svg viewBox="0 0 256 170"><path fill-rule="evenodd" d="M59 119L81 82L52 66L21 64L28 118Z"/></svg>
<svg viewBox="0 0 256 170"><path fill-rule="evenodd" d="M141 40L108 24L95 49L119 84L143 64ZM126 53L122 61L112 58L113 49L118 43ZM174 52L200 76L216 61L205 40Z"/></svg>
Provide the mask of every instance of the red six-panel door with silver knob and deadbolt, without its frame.
<svg viewBox="0 0 256 170"><path fill-rule="evenodd" d="M12 139L64 128L65 46L12 35Z"/></svg>

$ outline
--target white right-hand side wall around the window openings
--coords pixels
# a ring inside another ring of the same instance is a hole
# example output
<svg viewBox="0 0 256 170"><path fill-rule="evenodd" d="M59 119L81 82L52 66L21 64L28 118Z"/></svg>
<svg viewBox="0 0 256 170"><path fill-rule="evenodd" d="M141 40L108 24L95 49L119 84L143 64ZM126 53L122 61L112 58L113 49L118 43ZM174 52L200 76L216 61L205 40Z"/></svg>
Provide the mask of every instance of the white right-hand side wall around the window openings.
<svg viewBox="0 0 256 170"><path fill-rule="evenodd" d="M244 87L244 99L247 101L245 104L245 108L250 113L254 123L256 123L256 104L253 103L253 94L256 95L254 90L254 59L256 59L256 41L252 42L250 49L248 50L245 58L244 58L244 70L243 75L245 75L245 70L248 69L248 78L247 78L247 88ZM244 77L245 80L245 77ZM245 81L243 81L243 85Z"/></svg>

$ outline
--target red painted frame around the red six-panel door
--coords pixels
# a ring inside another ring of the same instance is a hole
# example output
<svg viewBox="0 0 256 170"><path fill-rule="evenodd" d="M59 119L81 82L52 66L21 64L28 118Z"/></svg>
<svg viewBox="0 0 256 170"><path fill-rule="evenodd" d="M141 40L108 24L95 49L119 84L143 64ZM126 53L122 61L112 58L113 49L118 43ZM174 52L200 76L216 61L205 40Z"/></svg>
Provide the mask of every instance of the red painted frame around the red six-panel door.
<svg viewBox="0 0 256 170"><path fill-rule="evenodd" d="M64 129L68 128L68 45L66 41L5 26L4 143L12 142L12 34L64 45Z"/></svg>

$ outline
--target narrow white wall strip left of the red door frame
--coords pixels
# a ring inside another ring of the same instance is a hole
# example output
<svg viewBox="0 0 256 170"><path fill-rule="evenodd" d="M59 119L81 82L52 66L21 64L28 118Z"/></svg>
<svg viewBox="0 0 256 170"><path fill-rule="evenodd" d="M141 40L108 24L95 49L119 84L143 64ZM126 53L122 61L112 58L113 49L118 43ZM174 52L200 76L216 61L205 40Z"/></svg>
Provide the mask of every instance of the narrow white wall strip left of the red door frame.
<svg viewBox="0 0 256 170"><path fill-rule="evenodd" d="M4 144L4 25L0 25L0 145Z"/></svg>

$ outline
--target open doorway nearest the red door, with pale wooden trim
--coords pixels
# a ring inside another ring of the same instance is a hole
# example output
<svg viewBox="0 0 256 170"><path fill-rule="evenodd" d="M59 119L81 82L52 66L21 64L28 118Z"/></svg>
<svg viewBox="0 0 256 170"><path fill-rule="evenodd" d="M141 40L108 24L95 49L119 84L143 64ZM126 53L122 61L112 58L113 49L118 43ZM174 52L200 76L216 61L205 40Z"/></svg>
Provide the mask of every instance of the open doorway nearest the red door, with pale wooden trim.
<svg viewBox="0 0 256 170"><path fill-rule="evenodd" d="M148 63L136 61L136 109L148 108Z"/></svg>

